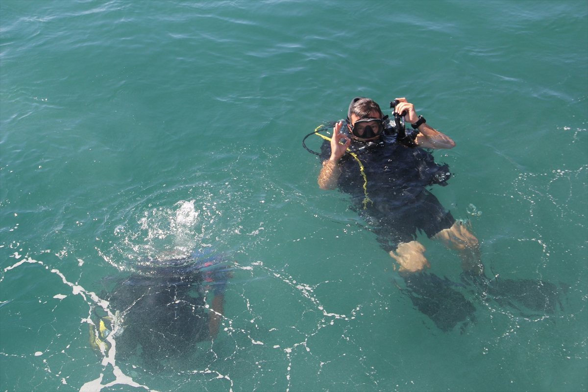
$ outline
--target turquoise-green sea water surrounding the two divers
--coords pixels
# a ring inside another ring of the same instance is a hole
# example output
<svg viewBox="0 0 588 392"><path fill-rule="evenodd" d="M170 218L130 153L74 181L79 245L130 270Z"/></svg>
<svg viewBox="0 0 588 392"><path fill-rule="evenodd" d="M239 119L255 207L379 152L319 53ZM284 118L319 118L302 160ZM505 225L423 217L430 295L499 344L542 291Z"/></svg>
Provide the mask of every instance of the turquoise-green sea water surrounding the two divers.
<svg viewBox="0 0 588 392"><path fill-rule="evenodd" d="M2 390L587 390L588 2L2 0L0 82ZM432 192L563 309L464 292L475 323L443 332L413 306L301 145L358 95L455 140ZM236 263L216 339L97 356L89 293L204 247Z"/></svg>

